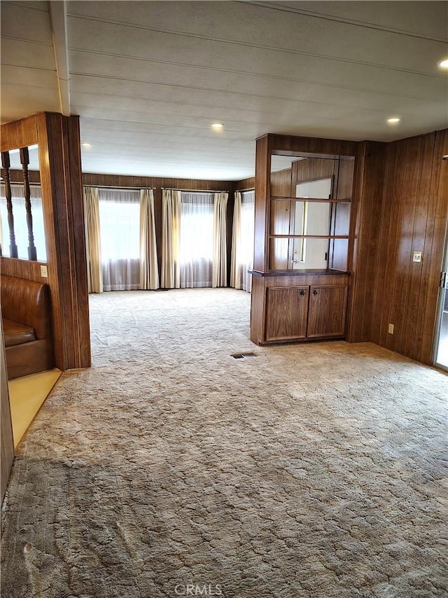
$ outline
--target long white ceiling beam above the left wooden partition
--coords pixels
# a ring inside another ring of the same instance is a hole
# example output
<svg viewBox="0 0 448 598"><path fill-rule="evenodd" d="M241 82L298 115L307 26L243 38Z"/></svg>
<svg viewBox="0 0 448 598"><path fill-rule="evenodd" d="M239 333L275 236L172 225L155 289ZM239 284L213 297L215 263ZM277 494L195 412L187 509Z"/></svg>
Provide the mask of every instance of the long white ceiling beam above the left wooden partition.
<svg viewBox="0 0 448 598"><path fill-rule="evenodd" d="M50 5L53 48L55 49L60 110L64 116L70 116L70 69L66 1L50 0L48 4Z"/></svg>

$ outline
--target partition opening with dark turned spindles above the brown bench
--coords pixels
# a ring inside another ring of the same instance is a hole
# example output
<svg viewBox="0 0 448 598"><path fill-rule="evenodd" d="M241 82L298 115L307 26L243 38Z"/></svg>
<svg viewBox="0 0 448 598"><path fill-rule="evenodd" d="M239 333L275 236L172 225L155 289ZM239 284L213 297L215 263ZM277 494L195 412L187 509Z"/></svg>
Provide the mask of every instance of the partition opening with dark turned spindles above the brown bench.
<svg viewBox="0 0 448 598"><path fill-rule="evenodd" d="M38 146L1 152L1 166L1 254L46 261Z"/></svg>

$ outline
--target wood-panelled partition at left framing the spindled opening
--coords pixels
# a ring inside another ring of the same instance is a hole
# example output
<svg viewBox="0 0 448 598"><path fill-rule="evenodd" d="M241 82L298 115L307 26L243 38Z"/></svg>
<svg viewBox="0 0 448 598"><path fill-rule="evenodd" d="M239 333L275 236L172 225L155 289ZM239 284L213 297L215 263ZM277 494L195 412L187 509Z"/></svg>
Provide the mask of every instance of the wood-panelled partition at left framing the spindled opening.
<svg viewBox="0 0 448 598"><path fill-rule="evenodd" d="M38 144L48 278L39 264L1 259L3 273L50 286L55 365L90 366L79 119L43 112L1 125L1 151ZM20 179L19 179L20 180Z"/></svg>

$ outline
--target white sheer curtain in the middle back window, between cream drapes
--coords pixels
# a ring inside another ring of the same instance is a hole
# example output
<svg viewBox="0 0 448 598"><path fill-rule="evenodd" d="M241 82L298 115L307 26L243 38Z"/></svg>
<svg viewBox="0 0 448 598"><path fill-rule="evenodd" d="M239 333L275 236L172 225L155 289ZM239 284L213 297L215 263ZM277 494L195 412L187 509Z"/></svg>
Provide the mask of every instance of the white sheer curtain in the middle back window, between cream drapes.
<svg viewBox="0 0 448 598"><path fill-rule="evenodd" d="M181 192L181 287L211 287L214 255L213 193Z"/></svg>

